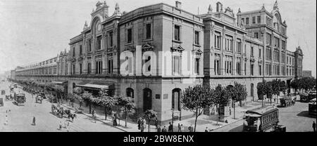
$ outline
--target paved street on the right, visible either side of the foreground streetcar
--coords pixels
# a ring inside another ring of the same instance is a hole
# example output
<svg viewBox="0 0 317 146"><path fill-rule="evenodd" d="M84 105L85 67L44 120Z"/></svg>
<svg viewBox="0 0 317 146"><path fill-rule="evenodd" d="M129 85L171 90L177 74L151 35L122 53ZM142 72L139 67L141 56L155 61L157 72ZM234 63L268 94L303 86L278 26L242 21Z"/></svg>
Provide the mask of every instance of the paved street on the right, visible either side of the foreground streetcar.
<svg viewBox="0 0 317 146"><path fill-rule="evenodd" d="M286 126L287 132L311 132L313 121L316 117L309 117L308 103L296 102L291 107L279 108L279 124ZM237 121L214 132L242 132L243 121Z"/></svg>

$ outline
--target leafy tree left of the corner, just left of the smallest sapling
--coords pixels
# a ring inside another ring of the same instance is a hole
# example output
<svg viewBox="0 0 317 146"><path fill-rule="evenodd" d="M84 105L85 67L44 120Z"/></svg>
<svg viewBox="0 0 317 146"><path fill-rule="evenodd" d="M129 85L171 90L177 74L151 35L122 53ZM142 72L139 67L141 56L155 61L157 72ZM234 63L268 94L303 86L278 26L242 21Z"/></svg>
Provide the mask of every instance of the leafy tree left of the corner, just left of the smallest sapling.
<svg viewBox="0 0 317 146"><path fill-rule="evenodd" d="M125 112L125 127L127 126L127 114L128 112L133 112L135 110L135 104L130 100L130 98L125 96L119 96L117 98L117 105L122 107Z"/></svg>

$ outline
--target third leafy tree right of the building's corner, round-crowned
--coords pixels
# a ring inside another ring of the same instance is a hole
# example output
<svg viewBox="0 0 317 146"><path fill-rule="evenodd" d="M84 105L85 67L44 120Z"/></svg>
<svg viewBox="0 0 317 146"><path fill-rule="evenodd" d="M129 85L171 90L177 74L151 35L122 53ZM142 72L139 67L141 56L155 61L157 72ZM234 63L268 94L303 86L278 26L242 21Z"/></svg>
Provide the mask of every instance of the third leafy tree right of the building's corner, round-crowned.
<svg viewBox="0 0 317 146"><path fill-rule="evenodd" d="M245 100L247 98L247 89L242 85L235 82L235 86L228 86L225 89L225 94L227 98L231 98L233 102L233 119L235 119L235 102Z"/></svg>

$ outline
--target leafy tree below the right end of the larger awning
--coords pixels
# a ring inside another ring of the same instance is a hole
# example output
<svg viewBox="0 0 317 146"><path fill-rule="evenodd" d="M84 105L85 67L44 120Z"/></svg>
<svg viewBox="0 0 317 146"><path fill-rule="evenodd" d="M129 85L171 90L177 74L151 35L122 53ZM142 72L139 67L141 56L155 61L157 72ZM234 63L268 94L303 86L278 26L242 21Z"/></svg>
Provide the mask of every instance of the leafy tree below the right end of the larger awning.
<svg viewBox="0 0 317 146"><path fill-rule="evenodd" d="M94 103L104 107L104 119L107 119L107 108L111 111L111 108L116 105L117 100L108 95L106 88L101 88L99 91L99 97L94 98Z"/></svg>

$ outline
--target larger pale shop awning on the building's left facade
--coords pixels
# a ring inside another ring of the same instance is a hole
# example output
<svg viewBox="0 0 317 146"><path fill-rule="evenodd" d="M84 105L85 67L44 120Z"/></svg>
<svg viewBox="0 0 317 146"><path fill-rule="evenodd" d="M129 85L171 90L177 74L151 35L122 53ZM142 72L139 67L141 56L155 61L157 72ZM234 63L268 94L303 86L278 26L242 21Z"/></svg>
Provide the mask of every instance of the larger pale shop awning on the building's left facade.
<svg viewBox="0 0 317 146"><path fill-rule="evenodd" d="M94 89L101 89L101 88L113 89L114 88L113 83L101 82L101 81L82 81L76 86L83 87L83 88L94 88Z"/></svg>

